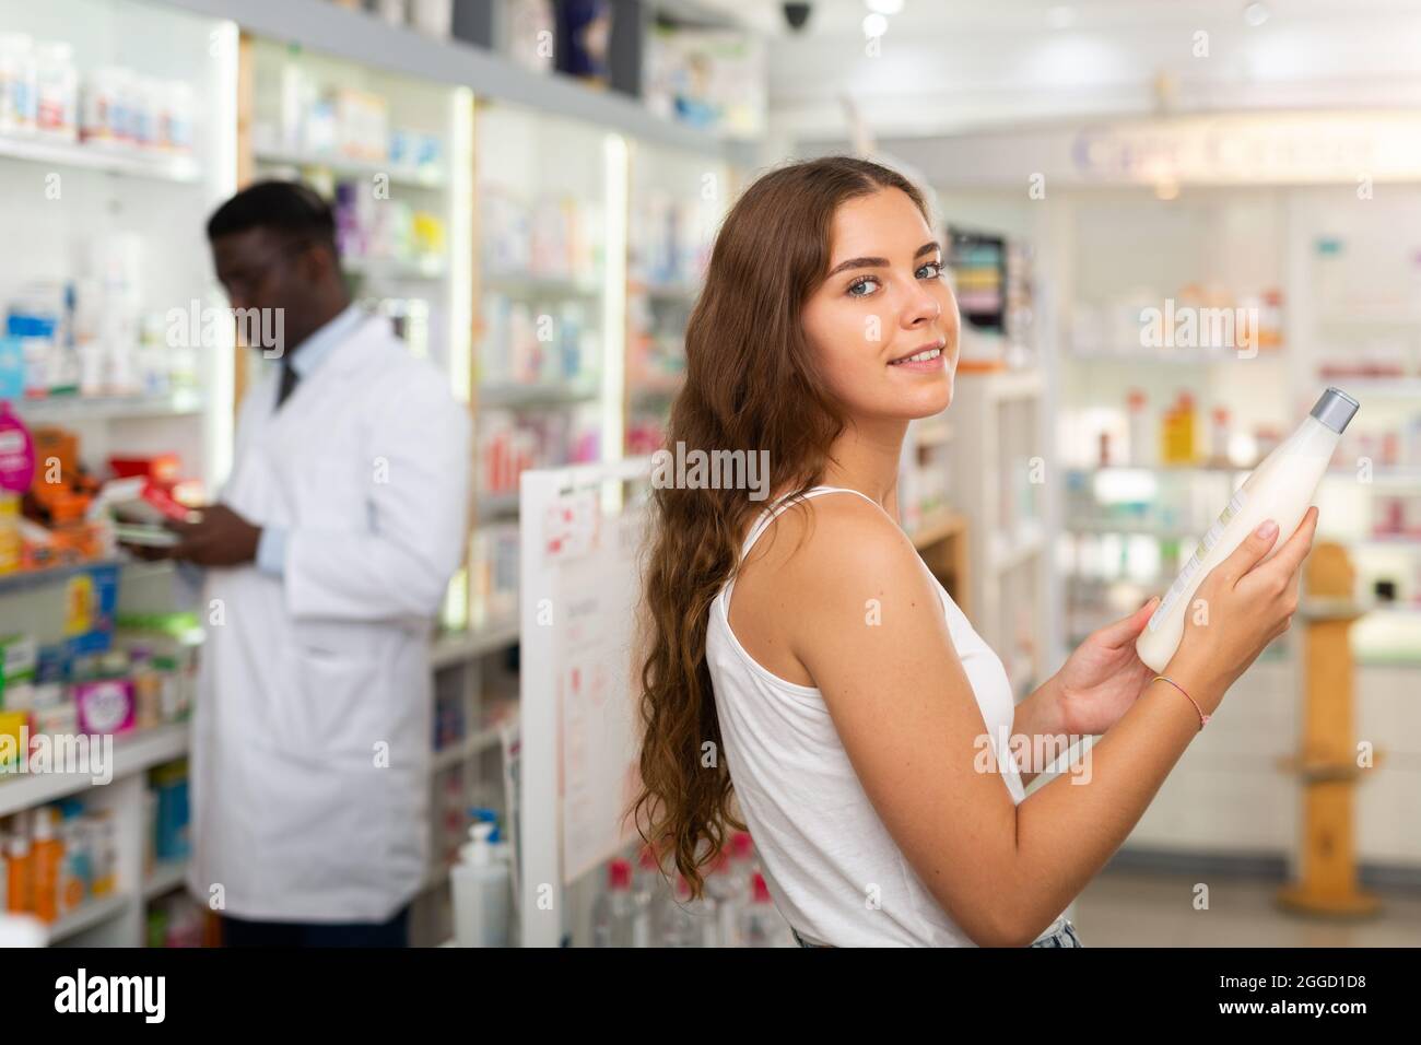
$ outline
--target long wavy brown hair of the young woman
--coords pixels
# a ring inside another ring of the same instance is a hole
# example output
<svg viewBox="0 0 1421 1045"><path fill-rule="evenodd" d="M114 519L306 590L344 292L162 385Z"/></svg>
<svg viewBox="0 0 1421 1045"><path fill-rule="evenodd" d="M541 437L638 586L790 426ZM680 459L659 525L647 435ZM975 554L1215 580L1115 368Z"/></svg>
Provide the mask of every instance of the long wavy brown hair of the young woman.
<svg viewBox="0 0 1421 1045"><path fill-rule="evenodd" d="M850 199L901 189L932 223L901 173L851 156L789 164L755 181L726 215L705 287L686 326L686 381L671 407L666 449L769 451L769 489L800 495L824 476L844 429L800 316L828 273L834 213ZM740 542L766 502L746 489L652 492L641 604L641 791L637 829L692 896L720 853L733 809L706 624L739 569ZM713 745L713 746L708 746Z"/></svg>

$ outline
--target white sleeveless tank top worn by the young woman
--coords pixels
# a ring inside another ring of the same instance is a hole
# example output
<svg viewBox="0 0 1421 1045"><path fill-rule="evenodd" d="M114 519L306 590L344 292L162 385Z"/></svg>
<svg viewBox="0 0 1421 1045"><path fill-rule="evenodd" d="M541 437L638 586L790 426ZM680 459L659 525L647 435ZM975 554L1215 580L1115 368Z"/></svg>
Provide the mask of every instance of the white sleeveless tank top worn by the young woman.
<svg viewBox="0 0 1421 1045"><path fill-rule="evenodd" d="M814 486L806 498L867 493ZM740 547L740 559L789 508L767 508ZM952 644L962 660L988 735L1010 734L1015 702L1000 658L946 589ZM706 663L715 688L726 766L760 854L764 884L780 913L811 944L836 947L975 947L908 864L848 761L816 687L789 682L756 661L730 630L733 582L710 604ZM1026 796L1015 762L1002 778L1015 803ZM877 887L877 889L875 889ZM874 906L877 903L877 907ZM1064 913L1042 936L1064 923Z"/></svg>

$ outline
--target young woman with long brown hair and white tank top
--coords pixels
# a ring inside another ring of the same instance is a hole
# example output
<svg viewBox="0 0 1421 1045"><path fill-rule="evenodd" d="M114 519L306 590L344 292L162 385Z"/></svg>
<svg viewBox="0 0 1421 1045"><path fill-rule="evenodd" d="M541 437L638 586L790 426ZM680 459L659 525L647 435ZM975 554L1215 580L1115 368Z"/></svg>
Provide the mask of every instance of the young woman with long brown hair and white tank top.
<svg viewBox="0 0 1421 1045"><path fill-rule="evenodd" d="M686 330L668 445L767 451L770 498L655 492L635 815L693 894L747 826L804 945L1080 945L1063 910L1287 630L1312 546L1316 509L1268 562L1276 525L1245 540L1165 678L1134 653L1151 600L1013 707L897 522L904 434L952 401L958 331L921 195L850 158L746 189ZM1003 734L1104 736L1088 775L1025 798L1044 766Z"/></svg>

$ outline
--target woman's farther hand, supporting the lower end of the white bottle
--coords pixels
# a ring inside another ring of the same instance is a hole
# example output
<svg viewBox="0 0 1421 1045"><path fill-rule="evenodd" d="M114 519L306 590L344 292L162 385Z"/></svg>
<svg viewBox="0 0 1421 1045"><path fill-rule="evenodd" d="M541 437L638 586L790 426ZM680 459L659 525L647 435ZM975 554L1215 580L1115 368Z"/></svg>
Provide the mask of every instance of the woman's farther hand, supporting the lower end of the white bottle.
<svg viewBox="0 0 1421 1045"><path fill-rule="evenodd" d="M1120 721L1154 678L1135 640L1160 604L1151 599L1124 620L1093 631L1056 672L1061 727L1070 735L1098 735Z"/></svg>

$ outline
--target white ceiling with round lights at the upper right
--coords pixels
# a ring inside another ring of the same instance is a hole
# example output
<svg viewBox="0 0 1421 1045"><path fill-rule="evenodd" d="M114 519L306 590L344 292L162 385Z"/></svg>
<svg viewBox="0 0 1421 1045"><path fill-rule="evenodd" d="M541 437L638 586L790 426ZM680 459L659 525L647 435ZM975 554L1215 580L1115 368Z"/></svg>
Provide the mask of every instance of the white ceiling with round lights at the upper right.
<svg viewBox="0 0 1421 1045"><path fill-rule="evenodd" d="M1245 0L904 0L868 54L864 0L813 0L799 33L780 0L685 0L769 38L776 149L845 138L845 98L880 138L1162 109L1421 108L1421 0L1263 1L1255 27Z"/></svg>

